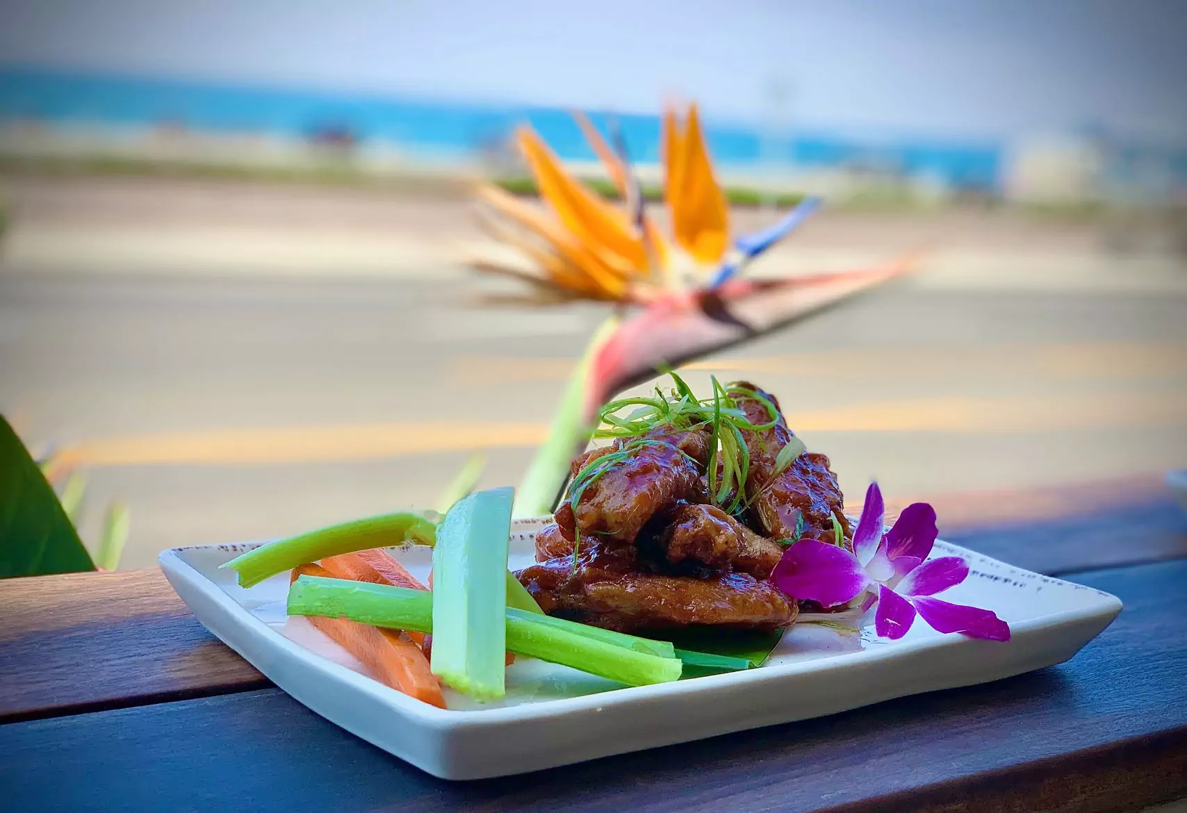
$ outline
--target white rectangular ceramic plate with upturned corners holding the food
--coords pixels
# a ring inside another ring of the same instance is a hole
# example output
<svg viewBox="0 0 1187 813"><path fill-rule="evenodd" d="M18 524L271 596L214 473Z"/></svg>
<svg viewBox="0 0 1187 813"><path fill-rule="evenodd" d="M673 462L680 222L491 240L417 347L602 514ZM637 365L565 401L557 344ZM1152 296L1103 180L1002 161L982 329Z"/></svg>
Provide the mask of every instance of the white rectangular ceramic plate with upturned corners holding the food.
<svg viewBox="0 0 1187 813"><path fill-rule="evenodd" d="M539 522L518 521L512 566L532 560ZM872 628L846 637L794 627L758 669L623 687L563 666L520 659L507 698L478 704L446 692L449 710L370 679L364 667L304 618L285 614L288 574L242 589L218 566L255 544L184 547L160 554L170 583L211 633L280 688L386 751L444 779L518 774L776 723L891 698L969 686L1066 661L1121 611L1115 596L1011 567L937 542L972 572L945 601L994 610L1008 643L941 635L916 621L900 641ZM427 548L393 548L425 577Z"/></svg>

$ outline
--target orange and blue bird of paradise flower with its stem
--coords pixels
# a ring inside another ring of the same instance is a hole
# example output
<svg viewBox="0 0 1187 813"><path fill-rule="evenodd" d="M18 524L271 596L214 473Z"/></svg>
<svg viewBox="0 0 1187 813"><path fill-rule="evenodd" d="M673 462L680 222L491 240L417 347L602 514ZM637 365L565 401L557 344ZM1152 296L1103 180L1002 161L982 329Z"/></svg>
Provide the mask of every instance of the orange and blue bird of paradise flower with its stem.
<svg viewBox="0 0 1187 813"><path fill-rule="evenodd" d="M573 114L605 167L620 203L604 199L564 170L528 126L515 140L545 207L482 184L483 224L533 265L477 259L478 271L527 282L533 300L612 303L570 383L550 440L521 485L516 512L547 513L563 487L575 447L616 392L658 370L767 334L843 298L886 282L913 266L901 258L874 268L782 279L741 272L814 212L804 198L769 227L730 241L730 210L713 173L696 104L664 114L661 152L669 235L647 211L617 129L610 142L582 113Z"/></svg>

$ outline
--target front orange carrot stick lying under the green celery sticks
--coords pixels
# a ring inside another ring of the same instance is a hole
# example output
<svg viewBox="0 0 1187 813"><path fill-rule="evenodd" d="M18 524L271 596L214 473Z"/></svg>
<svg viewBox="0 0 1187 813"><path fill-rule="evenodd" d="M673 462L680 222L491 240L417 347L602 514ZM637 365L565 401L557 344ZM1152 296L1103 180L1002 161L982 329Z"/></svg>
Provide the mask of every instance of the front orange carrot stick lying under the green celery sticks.
<svg viewBox="0 0 1187 813"><path fill-rule="evenodd" d="M318 565L300 565L292 572L292 582L299 576L336 577ZM402 586L402 585L401 585ZM329 635L338 646L357 658L381 682L399 690L408 697L424 700L439 709L445 707L437 677L429 668L429 660L407 633L361 624L347 618L306 616L319 630Z"/></svg>

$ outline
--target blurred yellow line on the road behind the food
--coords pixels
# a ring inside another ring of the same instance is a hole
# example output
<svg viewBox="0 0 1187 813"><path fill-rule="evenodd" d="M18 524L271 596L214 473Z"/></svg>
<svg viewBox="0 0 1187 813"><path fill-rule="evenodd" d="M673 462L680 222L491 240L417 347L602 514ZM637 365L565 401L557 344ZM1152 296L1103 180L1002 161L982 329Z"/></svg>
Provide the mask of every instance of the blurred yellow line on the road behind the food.
<svg viewBox="0 0 1187 813"><path fill-rule="evenodd" d="M799 433L964 432L1003 434L1187 426L1187 390L1058 398L932 398L787 413ZM107 438L63 449L75 466L247 465L391 459L430 452L532 447L546 423L433 421L174 432Z"/></svg>

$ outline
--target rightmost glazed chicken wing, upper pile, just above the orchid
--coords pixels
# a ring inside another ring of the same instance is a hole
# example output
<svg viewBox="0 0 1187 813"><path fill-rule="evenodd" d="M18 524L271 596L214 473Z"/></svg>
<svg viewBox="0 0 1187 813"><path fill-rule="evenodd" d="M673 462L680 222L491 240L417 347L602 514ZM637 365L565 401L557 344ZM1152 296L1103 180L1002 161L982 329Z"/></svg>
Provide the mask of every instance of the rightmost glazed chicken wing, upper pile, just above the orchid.
<svg viewBox="0 0 1187 813"><path fill-rule="evenodd" d="M770 399L775 409L779 409L774 395L750 383L735 386ZM767 407L758 399L735 394L734 400L751 424L770 421ZM774 474L775 459L792 438L792 431L781 412L772 428L757 432L743 430L742 437L750 452L745 495L750 501L753 523L758 531L774 539L789 539L795 535L796 519L802 513L805 536L832 539L832 519L836 516L845 538L852 538L849 520L843 512L844 500L837 485L837 476L829 469L827 457L804 452L785 471Z"/></svg>

